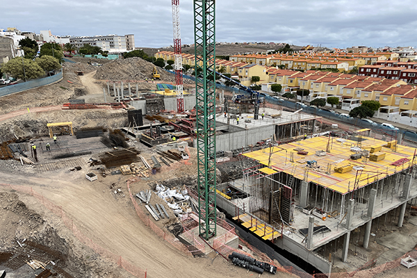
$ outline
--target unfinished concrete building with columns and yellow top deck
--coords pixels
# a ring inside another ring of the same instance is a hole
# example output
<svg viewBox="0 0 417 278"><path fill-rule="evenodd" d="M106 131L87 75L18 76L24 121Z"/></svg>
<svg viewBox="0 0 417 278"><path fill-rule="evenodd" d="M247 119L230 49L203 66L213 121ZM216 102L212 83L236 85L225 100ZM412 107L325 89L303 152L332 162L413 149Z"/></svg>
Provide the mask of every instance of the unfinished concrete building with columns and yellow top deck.
<svg viewBox="0 0 417 278"><path fill-rule="evenodd" d="M218 186L218 206L263 240L330 273L335 259L349 261L352 233L368 248L379 227L402 227L407 202L417 197L416 149L361 136L368 132L247 152L242 161L257 165Z"/></svg>

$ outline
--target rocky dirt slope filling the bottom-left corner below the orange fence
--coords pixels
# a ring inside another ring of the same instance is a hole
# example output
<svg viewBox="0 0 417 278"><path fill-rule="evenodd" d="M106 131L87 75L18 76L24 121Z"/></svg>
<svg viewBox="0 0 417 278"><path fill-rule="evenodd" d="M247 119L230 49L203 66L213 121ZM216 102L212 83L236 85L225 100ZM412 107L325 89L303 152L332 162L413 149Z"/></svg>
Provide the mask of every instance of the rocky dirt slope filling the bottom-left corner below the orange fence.
<svg viewBox="0 0 417 278"><path fill-rule="evenodd" d="M0 265L10 277L29 277L42 271L28 268L19 257L54 261L47 268L60 273L58 277L131 277L85 248L61 222L33 211L25 202L16 193L0 192L0 252L11 254Z"/></svg>

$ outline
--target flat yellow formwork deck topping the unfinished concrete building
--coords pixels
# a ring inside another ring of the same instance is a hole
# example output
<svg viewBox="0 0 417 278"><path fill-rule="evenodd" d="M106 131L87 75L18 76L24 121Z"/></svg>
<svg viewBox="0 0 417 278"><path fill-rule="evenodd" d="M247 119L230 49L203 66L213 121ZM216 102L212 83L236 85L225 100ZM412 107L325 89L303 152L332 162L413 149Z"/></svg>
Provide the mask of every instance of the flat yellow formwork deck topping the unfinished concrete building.
<svg viewBox="0 0 417 278"><path fill-rule="evenodd" d="M280 145L279 148L274 147L272 149L270 158L269 148L243 155L249 158L253 158L254 160L259 161L259 163L264 165L268 165L268 163L270 163L270 166L273 169L285 172L287 174L293 174L297 179L304 179L306 161L315 160L318 162L318 165L320 165L320 171L309 169L307 181L313 181L320 186L324 186L326 188L335 190L338 193L345 194L353 190L357 171L352 170L350 172L340 174L334 172L334 167L341 167L349 164L352 166L359 166L363 168L363 173L366 171L381 172L382 174L379 174L377 179L382 179L387 174L390 175L398 172L398 170L395 169L395 166L390 164L394 161L398 161L400 158L409 158L410 161L404 164L404 167L409 167L411 165L411 161L413 160L414 152L416 151L415 148L407 147L404 145L398 145L397 152L393 152L393 149L382 147L382 152L386 153L386 157L383 161L369 161L369 159L364 158L360 158L357 161L352 161L350 159L350 155L353 154L353 152L350 152L350 147L357 146L357 142L352 140L345 140L345 142L342 144L341 142L337 142L336 138L332 138L331 140L333 140L333 142L330 142L332 149L330 149L330 152L327 153L326 156L316 156L316 151L327 150L329 138L325 136ZM370 149L370 147L383 146L385 144L386 142L382 140L362 136L361 147L363 149ZM279 151L280 148L285 150ZM297 148L304 149L304 151L309 152L309 154L306 156L298 155L297 152L294 151L294 149ZM295 154L293 154L294 163L290 162L291 152L295 152ZM414 162L414 164L416 163L417 161ZM330 175L325 174L328 164L332 165L332 173ZM370 176L374 175L375 173L370 174ZM365 177L365 174L361 175L361 181L359 181L356 186L362 187L366 186L368 182L373 182L373 180L370 181L370 179L363 179L363 177ZM375 177L373 179L375 179Z"/></svg>

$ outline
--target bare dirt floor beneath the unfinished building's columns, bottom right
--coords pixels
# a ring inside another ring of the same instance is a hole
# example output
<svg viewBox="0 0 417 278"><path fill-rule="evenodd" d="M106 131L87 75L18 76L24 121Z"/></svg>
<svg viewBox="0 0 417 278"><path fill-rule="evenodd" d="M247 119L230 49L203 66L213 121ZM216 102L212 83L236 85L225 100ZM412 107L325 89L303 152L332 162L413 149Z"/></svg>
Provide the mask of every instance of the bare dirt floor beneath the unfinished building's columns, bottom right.
<svg viewBox="0 0 417 278"><path fill-rule="evenodd" d="M384 228L380 227L378 232L382 236L378 236L375 241L375 236L371 235L368 249L362 247L363 236L358 241L354 236L354 243L350 243L349 246L347 263L341 261L341 250L338 250L336 257L332 259L332 262L334 261L332 272L354 271L374 258L377 259L377 265L398 259L413 250L417 244L417 225L414 223L417 223L417 216L406 218L404 226L402 228L395 226L392 232L384 231Z"/></svg>

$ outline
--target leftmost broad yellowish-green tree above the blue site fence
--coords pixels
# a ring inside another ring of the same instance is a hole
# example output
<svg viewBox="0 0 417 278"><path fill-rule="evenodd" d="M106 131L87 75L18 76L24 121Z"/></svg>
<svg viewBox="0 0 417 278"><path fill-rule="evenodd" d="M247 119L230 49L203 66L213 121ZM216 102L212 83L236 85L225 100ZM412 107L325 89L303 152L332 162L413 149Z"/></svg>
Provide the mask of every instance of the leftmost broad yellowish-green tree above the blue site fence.
<svg viewBox="0 0 417 278"><path fill-rule="evenodd" d="M31 59L16 57L1 65L1 72L17 79L37 79L45 74L42 67Z"/></svg>

